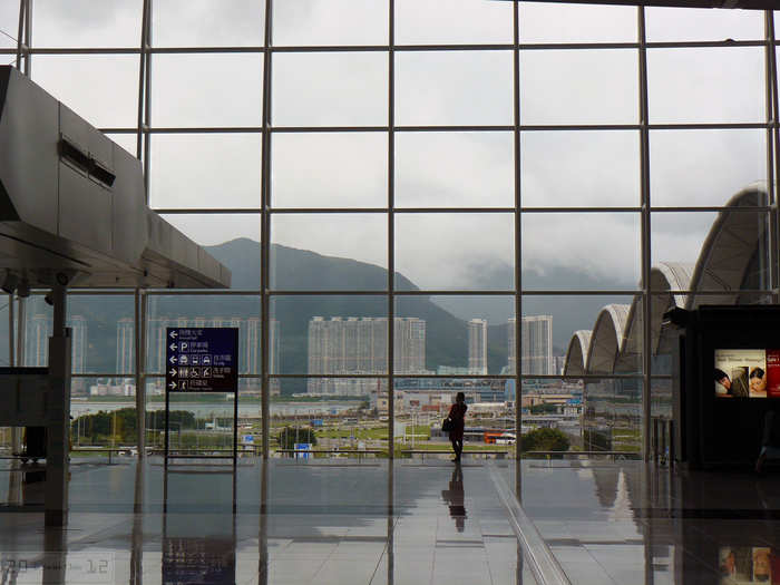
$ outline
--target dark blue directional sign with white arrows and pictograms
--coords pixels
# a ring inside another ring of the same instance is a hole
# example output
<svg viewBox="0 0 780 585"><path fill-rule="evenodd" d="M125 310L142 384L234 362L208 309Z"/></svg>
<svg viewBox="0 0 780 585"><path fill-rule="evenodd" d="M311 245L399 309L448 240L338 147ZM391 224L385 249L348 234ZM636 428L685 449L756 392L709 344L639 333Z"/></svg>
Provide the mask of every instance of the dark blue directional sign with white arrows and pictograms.
<svg viewBox="0 0 780 585"><path fill-rule="evenodd" d="M167 328L165 364L168 392L235 392L238 330Z"/></svg>

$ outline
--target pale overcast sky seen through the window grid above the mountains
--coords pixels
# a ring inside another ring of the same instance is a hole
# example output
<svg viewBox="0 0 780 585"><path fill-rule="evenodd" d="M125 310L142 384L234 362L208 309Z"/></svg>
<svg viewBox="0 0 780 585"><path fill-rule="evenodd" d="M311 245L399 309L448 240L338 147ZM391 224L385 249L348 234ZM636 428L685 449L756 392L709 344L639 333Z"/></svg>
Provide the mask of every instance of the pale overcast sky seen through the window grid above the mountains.
<svg viewBox="0 0 780 585"><path fill-rule="evenodd" d="M0 2L0 29L16 36L16 1ZM277 1L274 42L381 45L386 1ZM260 46L264 2L156 0L157 46ZM397 43L511 42L511 3L397 0ZM36 0L33 46L136 47L140 0ZM761 39L763 13L647 9L651 41ZM523 42L633 41L636 9L521 6ZM7 37L0 48L12 47ZM11 56L6 59L8 62ZM511 125L511 52L399 51L397 125ZM521 123L637 124L635 50L524 51ZM152 121L160 127L260 126L260 53L159 55L152 76ZM99 127L133 127L137 56L36 56L33 79ZM649 51L652 123L764 121L763 49ZM388 124L386 52L277 53L276 126ZM113 135L134 150L135 137ZM273 202L283 207L387 205L386 133L276 134ZM651 136L655 205L723 205L766 177L766 133L656 130ZM511 133L399 133L396 205L514 205ZM638 206L638 133L528 131L521 136L523 204ZM155 135L155 207L257 207L259 135ZM260 237L254 216L169 216L202 244ZM654 261L695 261L712 214L655 214ZM474 266L514 263L510 214L398 215L396 266L423 287L474 286ZM528 214L526 269L587 270L635 284L637 214ZM387 266L381 214L275 216L273 241Z"/></svg>

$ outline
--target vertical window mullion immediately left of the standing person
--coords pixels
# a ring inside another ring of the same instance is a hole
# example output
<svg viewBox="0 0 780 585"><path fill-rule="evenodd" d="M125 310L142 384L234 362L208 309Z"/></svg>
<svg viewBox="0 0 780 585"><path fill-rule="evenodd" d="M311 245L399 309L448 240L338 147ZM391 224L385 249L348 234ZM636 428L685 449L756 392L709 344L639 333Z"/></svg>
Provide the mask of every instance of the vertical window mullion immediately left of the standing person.
<svg viewBox="0 0 780 585"><path fill-rule="evenodd" d="M388 0L388 458L396 457L396 2ZM380 392L377 390L377 398Z"/></svg>

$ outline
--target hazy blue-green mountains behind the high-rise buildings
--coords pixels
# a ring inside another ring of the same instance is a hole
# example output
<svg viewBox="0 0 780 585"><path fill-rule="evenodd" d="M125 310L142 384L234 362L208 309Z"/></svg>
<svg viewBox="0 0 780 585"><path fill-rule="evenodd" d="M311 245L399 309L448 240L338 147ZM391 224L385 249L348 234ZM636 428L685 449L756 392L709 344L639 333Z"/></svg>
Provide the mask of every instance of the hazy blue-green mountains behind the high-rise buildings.
<svg viewBox="0 0 780 585"><path fill-rule="evenodd" d="M260 286L260 244L247 238L237 238L206 247L233 273L234 290L256 291ZM305 250L272 245L271 277L275 290L376 290L387 286L387 271L381 266L350 259L332 257ZM513 271L506 265L484 266L476 275L481 289L504 289L511 282ZM524 285L536 289L604 287L611 285L595 277L563 269L545 274L524 273ZM625 286L625 285L622 285ZM419 290L402 274L396 275L397 290ZM621 287L615 285L615 287ZM416 316L426 321L426 363L429 370L438 365L465 367L467 364L467 324L475 316L487 318L488 371L499 373L507 363L506 320L514 310L511 302L494 302L485 296L402 296L396 300L398 316ZM591 329L598 309L607 302L626 302L626 299L607 296L525 296L526 314L553 314L554 344L566 348L572 333L577 329ZM41 296L27 301L28 323L37 314L51 315L51 308ZM0 308L1 310L2 308ZM487 309L487 314L486 314ZM272 298L271 316L281 326L280 373L306 373L308 330L312 316L383 316L387 315L387 299L382 295L348 294L289 294ZM248 295L178 294L149 295L149 319L196 316L260 316L261 305L256 293ZM87 360L84 372L106 373L117 370L117 322L133 319L130 295L71 295L69 314L81 314L87 319ZM1 316L1 315L0 315ZM29 331L29 326L28 326ZM6 338L7 335L3 335ZM0 340L0 349L3 340ZM7 343L6 343L7 344ZM28 350L28 364L33 364L32 351ZM79 373L79 372L75 372ZM259 372L252 372L259 373ZM301 391L303 379L285 380L284 392Z"/></svg>

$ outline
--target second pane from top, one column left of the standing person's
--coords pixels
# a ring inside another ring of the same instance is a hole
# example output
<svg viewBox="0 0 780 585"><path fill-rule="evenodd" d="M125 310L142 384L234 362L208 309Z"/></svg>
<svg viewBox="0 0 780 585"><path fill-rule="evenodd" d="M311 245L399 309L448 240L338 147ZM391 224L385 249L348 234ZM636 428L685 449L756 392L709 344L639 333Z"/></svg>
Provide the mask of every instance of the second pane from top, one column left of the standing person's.
<svg viewBox="0 0 780 585"><path fill-rule="evenodd" d="M276 126L387 125L387 55L274 55L273 119Z"/></svg>

